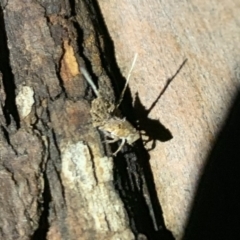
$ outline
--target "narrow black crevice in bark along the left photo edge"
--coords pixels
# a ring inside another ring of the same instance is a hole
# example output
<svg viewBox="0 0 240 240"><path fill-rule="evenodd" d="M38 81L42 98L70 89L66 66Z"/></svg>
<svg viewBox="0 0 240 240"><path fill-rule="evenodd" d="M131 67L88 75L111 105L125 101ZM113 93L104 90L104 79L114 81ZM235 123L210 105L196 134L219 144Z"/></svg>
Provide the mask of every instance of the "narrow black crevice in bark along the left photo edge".
<svg viewBox="0 0 240 240"><path fill-rule="evenodd" d="M2 8L0 8L0 72L2 72L2 81L4 91L6 93L6 100L3 106L3 112L6 118L7 125L9 125L11 123L11 120L13 119L15 121L14 124L16 124L17 128L19 128L20 118L15 102L16 86L14 83L14 76L9 61L9 49L7 45L7 35L3 19L3 10Z"/></svg>

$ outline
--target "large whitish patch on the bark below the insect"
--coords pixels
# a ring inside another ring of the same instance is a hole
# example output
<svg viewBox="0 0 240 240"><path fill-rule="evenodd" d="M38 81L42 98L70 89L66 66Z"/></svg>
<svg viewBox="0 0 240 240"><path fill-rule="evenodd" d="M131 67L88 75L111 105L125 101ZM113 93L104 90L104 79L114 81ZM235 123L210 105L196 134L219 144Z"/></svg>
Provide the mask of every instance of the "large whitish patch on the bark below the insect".
<svg viewBox="0 0 240 240"><path fill-rule="evenodd" d="M62 143L60 151L62 184L71 197L81 199L77 204L85 209L81 212L82 217L89 219L90 214L91 226L97 232L115 233L107 239L133 240L123 203L112 183L112 161L94 155L93 148L90 153L89 146L83 141Z"/></svg>

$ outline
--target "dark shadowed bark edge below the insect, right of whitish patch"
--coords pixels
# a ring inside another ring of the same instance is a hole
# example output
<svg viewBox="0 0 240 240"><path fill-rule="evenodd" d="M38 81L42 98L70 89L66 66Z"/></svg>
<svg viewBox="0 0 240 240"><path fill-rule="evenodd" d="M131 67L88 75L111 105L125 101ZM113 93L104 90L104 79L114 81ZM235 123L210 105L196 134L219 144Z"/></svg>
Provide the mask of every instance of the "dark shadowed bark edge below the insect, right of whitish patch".
<svg viewBox="0 0 240 240"><path fill-rule="evenodd" d="M136 236L141 233L148 240L174 240L164 223L149 160L140 140L134 148L125 145L114 158L115 187Z"/></svg>

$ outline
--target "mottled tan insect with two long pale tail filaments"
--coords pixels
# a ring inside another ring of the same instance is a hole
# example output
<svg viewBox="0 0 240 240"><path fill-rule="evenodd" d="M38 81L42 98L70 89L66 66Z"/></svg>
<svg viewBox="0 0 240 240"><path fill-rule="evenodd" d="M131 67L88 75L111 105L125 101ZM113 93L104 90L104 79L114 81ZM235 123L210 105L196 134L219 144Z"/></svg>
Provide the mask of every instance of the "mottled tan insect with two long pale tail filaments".
<svg viewBox="0 0 240 240"><path fill-rule="evenodd" d="M137 55L135 55L132 67L127 77L125 87L122 91L120 100L117 105L109 102L109 100L105 99L104 96L101 96L88 72L84 68L80 68L85 79L92 87L94 93L97 96L97 98L92 101L91 108L93 126L97 127L106 136L111 138L111 140L107 141L108 143L114 143L121 140L119 148L113 155L116 155L122 149L125 143L132 145L140 138L139 132L131 125L131 123L129 123L125 118L117 117L115 114L115 110L121 104L136 58Z"/></svg>

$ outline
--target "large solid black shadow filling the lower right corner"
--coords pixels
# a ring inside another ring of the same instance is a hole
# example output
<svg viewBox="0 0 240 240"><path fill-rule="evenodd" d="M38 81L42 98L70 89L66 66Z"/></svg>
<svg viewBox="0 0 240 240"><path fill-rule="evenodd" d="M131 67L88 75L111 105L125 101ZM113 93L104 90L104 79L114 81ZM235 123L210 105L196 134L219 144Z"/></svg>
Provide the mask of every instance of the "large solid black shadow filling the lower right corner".
<svg viewBox="0 0 240 240"><path fill-rule="evenodd" d="M240 239L240 92L209 154L184 240Z"/></svg>

